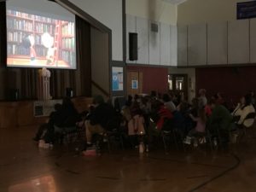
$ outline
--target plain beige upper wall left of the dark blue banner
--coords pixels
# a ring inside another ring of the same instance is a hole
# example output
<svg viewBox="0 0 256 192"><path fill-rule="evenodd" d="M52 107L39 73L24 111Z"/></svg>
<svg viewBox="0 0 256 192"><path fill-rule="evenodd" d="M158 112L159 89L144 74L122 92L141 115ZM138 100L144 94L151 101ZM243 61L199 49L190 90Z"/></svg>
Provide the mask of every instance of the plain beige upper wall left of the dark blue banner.
<svg viewBox="0 0 256 192"><path fill-rule="evenodd" d="M177 6L177 24L236 20L236 3L248 0L188 0Z"/></svg>

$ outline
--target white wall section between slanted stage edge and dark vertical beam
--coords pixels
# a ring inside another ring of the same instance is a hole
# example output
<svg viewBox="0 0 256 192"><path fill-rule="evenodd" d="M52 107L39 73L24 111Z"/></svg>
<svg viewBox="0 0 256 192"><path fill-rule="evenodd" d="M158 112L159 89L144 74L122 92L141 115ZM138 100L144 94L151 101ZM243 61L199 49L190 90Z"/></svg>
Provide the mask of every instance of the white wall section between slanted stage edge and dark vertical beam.
<svg viewBox="0 0 256 192"><path fill-rule="evenodd" d="M112 59L123 61L122 0L69 1L112 30Z"/></svg>

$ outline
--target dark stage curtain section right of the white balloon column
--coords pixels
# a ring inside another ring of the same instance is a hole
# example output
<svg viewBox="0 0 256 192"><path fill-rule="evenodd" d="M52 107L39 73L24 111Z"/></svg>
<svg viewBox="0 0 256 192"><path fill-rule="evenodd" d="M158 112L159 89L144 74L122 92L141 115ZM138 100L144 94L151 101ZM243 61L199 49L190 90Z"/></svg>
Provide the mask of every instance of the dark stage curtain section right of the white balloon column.
<svg viewBox="0 0 256 192"><path fill-rule="evenodd" d="M66 88L76 96L91 95L90 24L76 16L77 69L52 70L50 88L52 96L63 97Z"/></svg>

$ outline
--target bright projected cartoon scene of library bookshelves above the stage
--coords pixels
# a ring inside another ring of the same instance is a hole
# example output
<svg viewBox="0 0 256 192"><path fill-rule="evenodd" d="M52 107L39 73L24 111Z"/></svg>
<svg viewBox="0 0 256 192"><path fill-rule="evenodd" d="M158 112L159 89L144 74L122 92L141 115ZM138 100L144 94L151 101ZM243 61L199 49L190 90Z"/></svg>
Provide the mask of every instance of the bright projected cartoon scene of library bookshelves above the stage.
<svg viewBox="0 0 256 192"><path fill-rule="evenodd" d="M76 68L74 22L7 10L8 67Z"/></svg>

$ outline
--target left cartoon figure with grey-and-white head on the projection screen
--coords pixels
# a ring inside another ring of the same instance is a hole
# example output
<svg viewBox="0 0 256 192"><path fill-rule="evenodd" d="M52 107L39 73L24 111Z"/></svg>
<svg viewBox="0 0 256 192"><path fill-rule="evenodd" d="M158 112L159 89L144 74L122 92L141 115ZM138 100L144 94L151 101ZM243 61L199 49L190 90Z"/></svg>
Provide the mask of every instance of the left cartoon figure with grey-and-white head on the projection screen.
<svg viewBox="0 0 256 192"><path fill-rule="evenodd" d="M35 38L33 35L28 35L26 36L26 38L23 38L22 40L22 45L26 48L26 49L30 49L29 51L29 55L30 55L30 62L32 65L37 64L37 53L36 50L34 49L34 44L35 44Z"/></svg>

